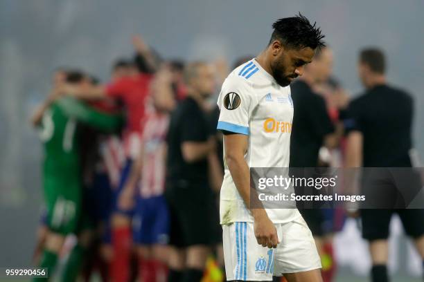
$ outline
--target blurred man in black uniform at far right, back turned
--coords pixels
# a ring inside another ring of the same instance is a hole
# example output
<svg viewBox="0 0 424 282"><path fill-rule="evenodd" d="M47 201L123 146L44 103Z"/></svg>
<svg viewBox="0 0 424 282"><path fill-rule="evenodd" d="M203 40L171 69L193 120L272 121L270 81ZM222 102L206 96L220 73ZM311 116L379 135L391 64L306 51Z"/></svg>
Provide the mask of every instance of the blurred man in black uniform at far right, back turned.
<svg viewBox="0 0 424 282"><path fill-rule="evenodd" d="M378 200L393 191L396 194L396 189L411 189L413 183L417 182L415 180L418 176L412 169L407 169L409 172L406 175L396 173L412 167L409 150L412 148L413 100L405 91L387 85L385 56L381 50L362 50L358 73L366 91L351 102L349 118L344 122L348 132L346 167L372 168L363 169L361 193L372 195L378 191L378 195L370 199ZM382 173L378 171L386 171L388 177L381 179ZM407 182L404 185L406 187L398 187L400 182ZM405 203L399 204L397 200L393 207L360 210L362 236L369 241L374 282L389 281L387 238L391 215L394 213L400 216L405 232L414 240L421 259L424 258L424 210L405 209Z"/></svg>

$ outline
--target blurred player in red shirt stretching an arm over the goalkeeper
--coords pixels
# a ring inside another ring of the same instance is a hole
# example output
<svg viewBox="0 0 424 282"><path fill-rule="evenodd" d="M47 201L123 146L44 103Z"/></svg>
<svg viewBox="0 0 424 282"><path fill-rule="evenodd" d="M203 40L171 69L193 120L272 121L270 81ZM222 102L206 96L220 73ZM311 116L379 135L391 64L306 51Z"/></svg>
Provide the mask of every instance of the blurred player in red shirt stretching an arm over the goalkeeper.
<svg viewBox="0 0 424 282"><path fill-rule="evenodd" d="M156 71L157 60L154 59L151 49L141 37L132 39L138 55L144 58L136 62L138 69L134 69L128 76L116 79L107 86L73 87L64 86L62 92L73 97L85 100L102 100L107 97L119 100L125 106L127 122L123 131L123 146L126 162L121 171L121 178L114 193L114 212L112 213L112 245L113 260L111 276L116 282L126 282L130 277L130 256L132 246L131 216L132 209L121 209L118 198L130 173L134 159L139 155L141 133L145 118L145 102L150 91L152 72Z"/></svg>

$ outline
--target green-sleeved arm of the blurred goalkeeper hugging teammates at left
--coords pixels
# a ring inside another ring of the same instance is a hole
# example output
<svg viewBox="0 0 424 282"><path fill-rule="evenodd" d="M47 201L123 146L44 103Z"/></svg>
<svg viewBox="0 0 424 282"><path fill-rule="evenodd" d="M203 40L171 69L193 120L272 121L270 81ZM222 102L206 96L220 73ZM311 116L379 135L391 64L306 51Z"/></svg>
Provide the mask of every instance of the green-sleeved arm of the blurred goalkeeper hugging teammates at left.
<svg viewBox="0 0 424 282"><path fill-rule="evenodd" d="M101 113L72 97L58 100L58 106L70 117L105 132L114 132L123 125L123 115Z"/></svg>

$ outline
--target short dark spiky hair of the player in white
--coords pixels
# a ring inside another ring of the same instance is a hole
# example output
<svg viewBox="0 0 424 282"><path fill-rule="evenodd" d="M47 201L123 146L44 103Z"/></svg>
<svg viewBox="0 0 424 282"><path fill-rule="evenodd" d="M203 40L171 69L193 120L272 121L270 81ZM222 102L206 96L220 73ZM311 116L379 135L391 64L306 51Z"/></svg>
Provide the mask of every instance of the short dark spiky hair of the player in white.
<svg viewBox="0 0 424 282"><path fill-rule="evenodd" d="M288 48L306 48L312 49L325 47L326 44L322 40L325 35L321 33L321 28L317 27L317 23L312 25L310 21L301 13L294 17L279 19L272 24L274 32L272 32L270 43L279 40Z"/></svg>

